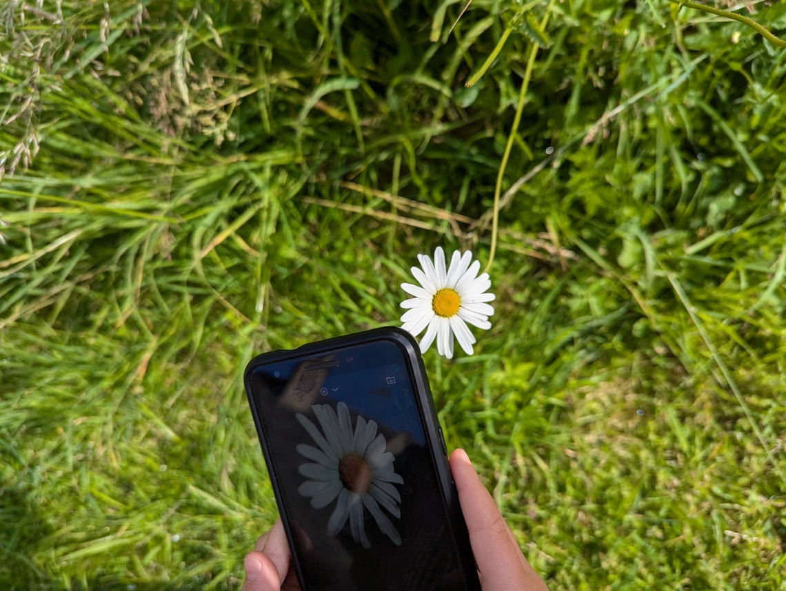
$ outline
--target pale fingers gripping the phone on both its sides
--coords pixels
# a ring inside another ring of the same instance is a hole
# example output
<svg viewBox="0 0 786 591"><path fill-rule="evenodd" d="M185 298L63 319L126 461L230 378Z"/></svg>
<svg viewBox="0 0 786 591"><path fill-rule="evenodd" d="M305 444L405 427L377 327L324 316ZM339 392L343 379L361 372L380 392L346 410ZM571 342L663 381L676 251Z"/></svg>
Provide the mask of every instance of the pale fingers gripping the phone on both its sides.
<svg viewBox="0 0 786 591"><path fill-rule="evenodd" d="M510 527L464 450L450 454L458 500L467 522L483 591L549 591L521 553ZM281 520L244 560L243 591L300 591Z"/></svg>

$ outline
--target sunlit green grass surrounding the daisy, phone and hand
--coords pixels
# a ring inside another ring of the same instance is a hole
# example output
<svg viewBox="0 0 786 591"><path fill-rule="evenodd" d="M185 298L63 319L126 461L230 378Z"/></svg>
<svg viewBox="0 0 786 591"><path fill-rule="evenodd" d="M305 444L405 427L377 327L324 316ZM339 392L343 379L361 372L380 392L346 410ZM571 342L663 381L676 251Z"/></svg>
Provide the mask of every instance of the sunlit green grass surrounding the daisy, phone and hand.
<svg viewBox="0 0 786 591"><path fill-rule="evenodd" d="M2 10L4 589L239 588L277 514L245 363L487 261L509 140L494 326L425 356L449 447L550 589L786 589L786 53L516 6Z"/></svg>

